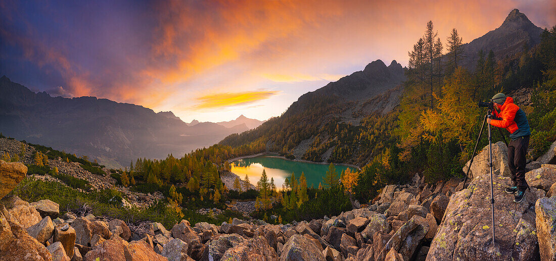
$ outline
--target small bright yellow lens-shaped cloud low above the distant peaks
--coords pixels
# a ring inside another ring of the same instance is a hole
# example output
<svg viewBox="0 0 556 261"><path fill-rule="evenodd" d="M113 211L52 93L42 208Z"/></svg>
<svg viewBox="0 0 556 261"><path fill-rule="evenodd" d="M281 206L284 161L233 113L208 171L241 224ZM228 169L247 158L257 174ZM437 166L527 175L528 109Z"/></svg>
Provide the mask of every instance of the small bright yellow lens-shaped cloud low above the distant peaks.
<svg viewBox="0 0 556 261"><path fill-rule="evenodd" d="M232 106L241 106L255 103L264 99L268 99L279 91L254 91L254 92L236 92L236 93L217 93L197 97L200 103L193 106L193 109L216 109Z"/></svg>

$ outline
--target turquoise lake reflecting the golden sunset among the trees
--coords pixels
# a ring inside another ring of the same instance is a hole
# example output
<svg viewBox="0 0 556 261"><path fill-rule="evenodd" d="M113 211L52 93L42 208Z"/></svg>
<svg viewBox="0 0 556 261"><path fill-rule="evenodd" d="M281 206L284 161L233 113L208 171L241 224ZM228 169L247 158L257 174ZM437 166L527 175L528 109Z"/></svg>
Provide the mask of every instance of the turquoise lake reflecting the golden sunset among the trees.
<svg viewBox="0 0 556 261"><path fill-rule="evenodd" d="M249 181L254 185L256 185L261 178L262 170L265 169L269 180L270 178L274 178L274 183L278 189L282 188L284 180L291 177L292 172L295 173L296 179L299 179L301 172L305 173L307 187L314 185L315 188L317 188L328 170L328 164L297 162L265 155L235 160L231 163L231 167L231 172L239 175L241 179L244 179L247 174ZM345 165L335 165L335 167L338 177L340 173L347 168L356 170L355 168Z"/></svg>

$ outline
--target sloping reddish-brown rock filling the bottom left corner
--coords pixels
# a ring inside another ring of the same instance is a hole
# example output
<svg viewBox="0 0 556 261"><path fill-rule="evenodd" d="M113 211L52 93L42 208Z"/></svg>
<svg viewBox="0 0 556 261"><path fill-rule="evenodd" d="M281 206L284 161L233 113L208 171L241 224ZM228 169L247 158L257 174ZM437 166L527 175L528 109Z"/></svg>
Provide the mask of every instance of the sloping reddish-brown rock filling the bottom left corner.
<svg viewBox="0 0 556 261"><path fill-rule="evenodd" d="M29 236L19 223L13 222L11 215L2 204L0 204L0 260L52 260L52 254L48 249L37 239Z"/></svg>

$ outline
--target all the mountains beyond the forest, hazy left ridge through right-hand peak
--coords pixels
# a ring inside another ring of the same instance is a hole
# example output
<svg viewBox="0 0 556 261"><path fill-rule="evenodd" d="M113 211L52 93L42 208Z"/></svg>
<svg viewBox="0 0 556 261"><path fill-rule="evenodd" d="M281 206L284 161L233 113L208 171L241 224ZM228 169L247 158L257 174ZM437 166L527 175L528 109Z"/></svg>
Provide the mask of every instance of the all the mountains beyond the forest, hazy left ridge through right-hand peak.
<svg viewBox="0 0 556 261"><path fill-rule="evenodd" d="M464 67L473 68L477 53L493 51L503 59L540 41L543 29L514 9L503 24L463 44ZM405 80L404 68L396 61L389 66L376 60L363 71L342 77L314 92L303 94L280 117L267 122L240 116L229 122L185 123L172 112L155 113L135 104L96 97L51 97L34 93L6 76L0 78L0 132L77 155L87 155L102 164L118 167L137 158L164 158L222 144L240 145L259 137L269 139L270 150L292 152L301 157L321 136L321 144L337 133L325 133L326 123L358 126L368 116L384 115L399 104ZM302 128L302 129L300 129ZM252 129L251 131L248 131ZM276 131L289 129L289 131ZM314 144L319 146L319 144ZM334 148L327 143L320 158L326 160ZM324 148L324 147L323 147Z"/></svg>

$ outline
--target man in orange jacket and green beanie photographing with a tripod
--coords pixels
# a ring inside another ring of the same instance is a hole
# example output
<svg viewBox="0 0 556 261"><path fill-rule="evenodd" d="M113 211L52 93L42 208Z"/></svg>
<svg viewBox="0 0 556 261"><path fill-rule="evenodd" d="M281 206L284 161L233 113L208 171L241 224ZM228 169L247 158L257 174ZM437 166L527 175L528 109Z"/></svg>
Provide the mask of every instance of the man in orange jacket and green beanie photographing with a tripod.
<svg viewBox="0 0 556 261"><path fill-rule="evenodd" d="M497 119L486 119L490 125L498 128L506 128L510 132L510 143L508 144L508 165L512 173L512 187L505 189L507 193L515 193L514 202L521 202L525 189L529 188L525 180L525 155L529 146L529 135L531 135L527 116L522 109L514 104L512 97L506 97L504 93L498 93L492 97L494 116ZM516 193L517 192L517 193Z"/></svg>

